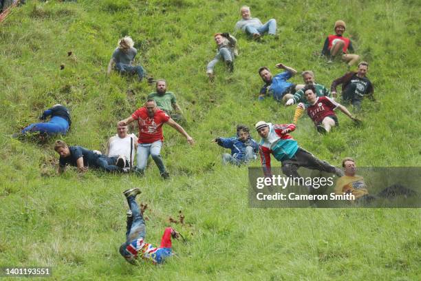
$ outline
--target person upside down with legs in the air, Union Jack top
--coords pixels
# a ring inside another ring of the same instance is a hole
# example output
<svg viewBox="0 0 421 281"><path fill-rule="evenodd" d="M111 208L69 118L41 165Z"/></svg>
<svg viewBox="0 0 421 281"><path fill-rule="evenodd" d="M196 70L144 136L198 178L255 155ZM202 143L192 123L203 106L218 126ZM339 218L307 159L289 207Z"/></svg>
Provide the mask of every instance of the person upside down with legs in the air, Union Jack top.
<svg viewBox="0 0 421 281"><path fill-rule="evenodd" d="M136 260L141 258L150 260L153 264L162 264L166 258L173 255L171 238L179 238L180 233L172 227L166 227L160 247L153 247L152 244L145 242L146 225L136 202L140 189L127 189L123 194L127 198L131 212L127 215L126 242L121 244L119 250L121 256L131 264L136 264Z"/></svg>

